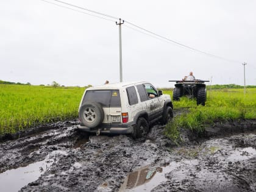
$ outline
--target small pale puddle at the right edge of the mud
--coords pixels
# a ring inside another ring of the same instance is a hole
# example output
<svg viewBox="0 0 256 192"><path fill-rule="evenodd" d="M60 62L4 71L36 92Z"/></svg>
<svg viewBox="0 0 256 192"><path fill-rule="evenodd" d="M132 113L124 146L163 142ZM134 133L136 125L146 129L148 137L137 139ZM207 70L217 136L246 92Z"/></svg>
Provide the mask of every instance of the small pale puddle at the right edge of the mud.
<svg viewBox="0 0 256 192"><path fill-rule="evenodd" d="M239 162L243 160L248 160L250 158L256 157L256 149L254 148L237 148L233 153L227 157L229 162Z"/></svg>

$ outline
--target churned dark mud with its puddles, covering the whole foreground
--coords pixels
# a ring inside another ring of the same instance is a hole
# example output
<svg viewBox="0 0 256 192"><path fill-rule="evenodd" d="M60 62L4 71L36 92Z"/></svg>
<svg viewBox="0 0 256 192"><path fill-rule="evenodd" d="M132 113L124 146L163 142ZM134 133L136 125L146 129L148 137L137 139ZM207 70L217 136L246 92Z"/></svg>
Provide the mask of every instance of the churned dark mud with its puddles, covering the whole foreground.
<svg viewBox="0 0 256 192"><path fill-rule="evenodd" d="M2 140L0 186L4 191L255 191L255 122L216 123L202 135L182 130L180 146L163 136L160 125L133 140L79 132L77 121L50 124L44 127L51 129Z"/></svg>

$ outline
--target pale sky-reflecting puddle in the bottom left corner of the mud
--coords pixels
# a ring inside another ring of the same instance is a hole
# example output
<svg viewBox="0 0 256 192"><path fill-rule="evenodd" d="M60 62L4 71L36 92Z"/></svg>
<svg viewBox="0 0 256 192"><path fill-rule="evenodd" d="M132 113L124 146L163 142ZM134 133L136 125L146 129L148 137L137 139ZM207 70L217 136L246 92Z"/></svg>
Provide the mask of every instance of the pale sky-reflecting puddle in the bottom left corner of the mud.
<svg viewBox="0 0 256 192"><path fill-rule="evenodd" d="M41 162L2 172L0 174L1 191L18 191L27 183L37 180L41 174L51 167L52 163L54 163L53 157L58 154L67 155L65 151L53 151Z"/></svg>

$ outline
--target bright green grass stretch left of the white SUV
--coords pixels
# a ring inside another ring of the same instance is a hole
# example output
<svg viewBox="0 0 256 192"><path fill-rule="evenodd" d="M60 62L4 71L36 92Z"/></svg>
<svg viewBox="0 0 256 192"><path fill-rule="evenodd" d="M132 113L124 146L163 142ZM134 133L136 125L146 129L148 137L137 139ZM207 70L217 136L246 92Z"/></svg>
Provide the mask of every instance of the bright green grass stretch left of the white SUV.
<svg viewBox="0 0 256 192"><path fill-rule="evenodd" d="M85 88L0 85L0 134L77 118Z"/></svg>

